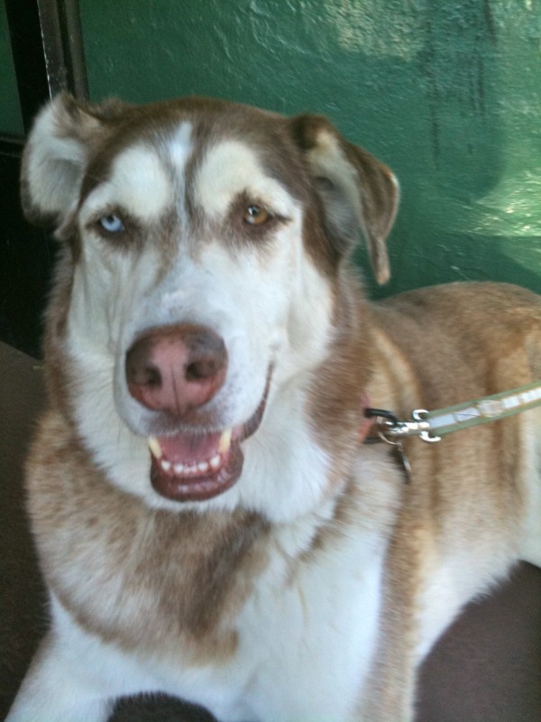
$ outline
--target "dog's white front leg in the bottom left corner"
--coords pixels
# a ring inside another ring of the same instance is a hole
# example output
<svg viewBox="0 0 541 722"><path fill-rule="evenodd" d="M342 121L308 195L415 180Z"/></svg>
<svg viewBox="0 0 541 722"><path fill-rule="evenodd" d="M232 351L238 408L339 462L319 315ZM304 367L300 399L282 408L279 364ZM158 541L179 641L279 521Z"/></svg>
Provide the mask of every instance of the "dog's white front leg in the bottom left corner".
<svg viewBox="0 0 541 722"><path fill-rule="evenodd" d="M89 684L84 662L70 658L48 634L5 722L105 722L113 703L102 695Z"/></svg>

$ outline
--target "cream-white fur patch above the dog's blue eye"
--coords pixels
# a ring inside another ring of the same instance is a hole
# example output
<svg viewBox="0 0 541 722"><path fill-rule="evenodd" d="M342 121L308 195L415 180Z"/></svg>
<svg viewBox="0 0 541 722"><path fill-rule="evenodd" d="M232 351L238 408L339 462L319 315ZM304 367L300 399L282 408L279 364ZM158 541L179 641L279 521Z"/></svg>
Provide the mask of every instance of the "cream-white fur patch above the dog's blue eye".
<svg viewBox="0 0 541 722"><path fill-rule="evenodd" d="M115 158L109 179L88 195L85 212L119 207L134 218L151 221L159 218L172 202L173 188L165 166L151 147L141 144L127 148Z"/></svg>

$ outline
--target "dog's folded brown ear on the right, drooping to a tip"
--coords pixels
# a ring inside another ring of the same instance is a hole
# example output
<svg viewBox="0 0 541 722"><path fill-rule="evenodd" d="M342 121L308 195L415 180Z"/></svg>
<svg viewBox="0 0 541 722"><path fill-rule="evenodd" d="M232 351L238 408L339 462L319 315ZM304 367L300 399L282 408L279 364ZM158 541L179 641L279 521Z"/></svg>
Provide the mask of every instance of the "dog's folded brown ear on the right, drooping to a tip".
<svg viewBox="0 0 541 722"><path fill-rule="evenodd" d="M360 228L377 282L389 281L386 240L399 207L397 179L370 153L346 141L326 117L297 116L290 123L315 179L334 242L345 250Z"/></svg>

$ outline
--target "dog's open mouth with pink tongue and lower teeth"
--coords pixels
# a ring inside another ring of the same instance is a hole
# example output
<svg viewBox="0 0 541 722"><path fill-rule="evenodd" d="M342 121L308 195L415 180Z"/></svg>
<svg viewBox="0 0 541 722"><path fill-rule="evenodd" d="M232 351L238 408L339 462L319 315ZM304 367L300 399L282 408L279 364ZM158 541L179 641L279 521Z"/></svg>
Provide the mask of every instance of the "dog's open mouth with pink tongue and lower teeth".
<svg viewBox="0 0 541 722"><path fill-rule="evenodd" d="M241 476L241 442L259 429L270 385L252 417L230 429L205 433L194 431L148 440L151 449L151 484L167 499L178 502L205 501L223 494Z"/></svg>

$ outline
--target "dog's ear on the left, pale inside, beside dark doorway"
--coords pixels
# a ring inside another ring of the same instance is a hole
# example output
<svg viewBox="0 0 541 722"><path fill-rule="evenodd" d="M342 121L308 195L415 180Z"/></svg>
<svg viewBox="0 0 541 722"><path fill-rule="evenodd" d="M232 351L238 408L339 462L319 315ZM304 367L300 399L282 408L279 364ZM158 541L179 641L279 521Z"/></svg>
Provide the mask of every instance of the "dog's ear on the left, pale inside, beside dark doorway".
<svg viewBox="0 0 541 722"><path fill-rule="evenodd" d="M78 203L88 157L106 133L107 106L63 93L36 117L23 153L21 196L32 223L58 226Z"/></svg>

